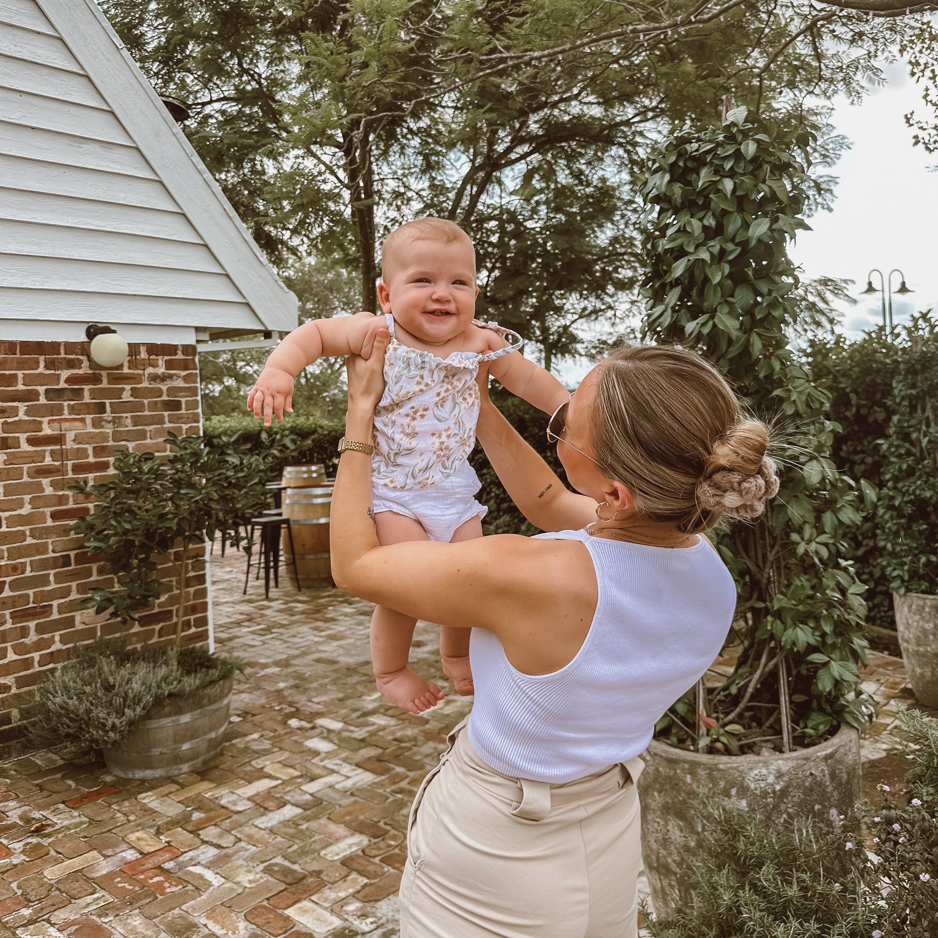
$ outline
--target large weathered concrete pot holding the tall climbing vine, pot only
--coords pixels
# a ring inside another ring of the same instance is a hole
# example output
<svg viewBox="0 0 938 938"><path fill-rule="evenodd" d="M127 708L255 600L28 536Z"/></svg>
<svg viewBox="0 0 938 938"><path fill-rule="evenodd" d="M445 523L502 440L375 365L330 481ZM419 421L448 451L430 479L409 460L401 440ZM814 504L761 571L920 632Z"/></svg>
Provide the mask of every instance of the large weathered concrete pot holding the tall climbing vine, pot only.
<svg viewBox="0 0 938 938"><path fill-rule="evenodd" d="M654 740L645 759L642 852L657 913L693 900L701 836L694 809L704 790L772 825L805 815L831 825L860 802L859 735L845 723L820 746L774 756L709 755Z"/></svg>

